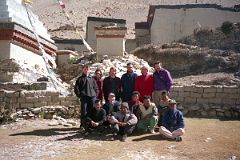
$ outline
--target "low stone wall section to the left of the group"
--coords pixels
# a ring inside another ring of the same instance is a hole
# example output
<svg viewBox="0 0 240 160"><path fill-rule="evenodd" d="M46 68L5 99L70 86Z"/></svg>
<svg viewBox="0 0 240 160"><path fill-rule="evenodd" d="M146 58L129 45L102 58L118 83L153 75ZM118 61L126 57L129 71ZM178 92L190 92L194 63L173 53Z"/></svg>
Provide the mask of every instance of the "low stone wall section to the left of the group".
<svg viewBox="0 0 240 160"><path fill-rule="evenodd" d="M0 90L0 123L17 118L52 118L53 115L79 117L79 110L76 96L62 96L59 92L46 90Z"/></svg>

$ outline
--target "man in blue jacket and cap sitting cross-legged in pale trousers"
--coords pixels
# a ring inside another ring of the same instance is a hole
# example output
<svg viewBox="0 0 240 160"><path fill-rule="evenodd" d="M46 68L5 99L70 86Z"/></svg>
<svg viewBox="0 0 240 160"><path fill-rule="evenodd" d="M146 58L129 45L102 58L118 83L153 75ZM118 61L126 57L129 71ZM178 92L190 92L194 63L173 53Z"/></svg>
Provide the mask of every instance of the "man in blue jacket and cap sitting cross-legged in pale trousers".
<svg viewBox="0 0 240 160"><path fill-rule="evenodd" d="M185 132L183 114L176 108L177 102L175 100L170 99L168 103L168 109L163 115L162 125L159 128L159 132L167 138L182 141L181 136Z"/></svg>

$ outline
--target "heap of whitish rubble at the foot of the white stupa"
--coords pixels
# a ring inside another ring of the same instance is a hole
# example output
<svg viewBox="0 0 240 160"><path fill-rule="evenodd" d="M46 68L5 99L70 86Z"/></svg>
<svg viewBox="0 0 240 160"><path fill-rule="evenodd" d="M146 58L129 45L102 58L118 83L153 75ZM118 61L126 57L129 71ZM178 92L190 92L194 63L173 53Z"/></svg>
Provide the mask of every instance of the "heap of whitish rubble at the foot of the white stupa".
<svg viewBox="0 0 240 160"><path fill-rule="evenodd" d="M0 82L5 82L0 87L16 87L16 89L46 89L58 90L68 94L69 85L62 82L58 75L51 69L46 73L39 65L31 66L30 64L16 61L15 59L4 59L0 61ZM36 82L42 84L27 85ZM10 83L8 85L8 83ZM23 85L17 85L22 83ZM13 85L14 84L14 85ZM25 88L24 88L25 87Z"/></svg>

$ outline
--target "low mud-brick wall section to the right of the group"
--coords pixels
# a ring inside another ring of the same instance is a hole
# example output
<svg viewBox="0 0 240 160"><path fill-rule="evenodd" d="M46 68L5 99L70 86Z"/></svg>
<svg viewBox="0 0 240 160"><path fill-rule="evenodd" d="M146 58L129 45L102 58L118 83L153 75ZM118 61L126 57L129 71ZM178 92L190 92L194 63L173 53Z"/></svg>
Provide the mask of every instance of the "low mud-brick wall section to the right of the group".
<svg viewBox="0 0 240 160"><path fill-rule="evenodd" d="M174 86L170 98L187 116L240 119L240 86Z"/></svg>

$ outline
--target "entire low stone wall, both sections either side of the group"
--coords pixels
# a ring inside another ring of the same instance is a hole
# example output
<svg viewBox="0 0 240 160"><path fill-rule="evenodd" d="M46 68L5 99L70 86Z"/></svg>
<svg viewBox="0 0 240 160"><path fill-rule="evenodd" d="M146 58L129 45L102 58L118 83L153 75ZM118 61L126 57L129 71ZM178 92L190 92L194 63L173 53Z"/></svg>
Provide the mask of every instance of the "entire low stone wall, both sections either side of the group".
<svg viewBox="0 0 240 160"><path fill-rule="evenodd" d="M170 97L185 116L240 119L239 86L174 86ZM0 90L0 123L17 118L79 117L76 96L56 91Z"/></svg>

